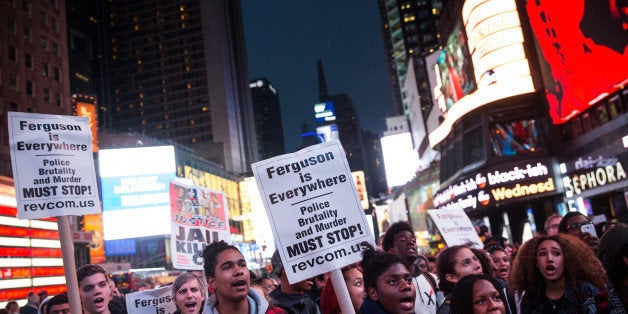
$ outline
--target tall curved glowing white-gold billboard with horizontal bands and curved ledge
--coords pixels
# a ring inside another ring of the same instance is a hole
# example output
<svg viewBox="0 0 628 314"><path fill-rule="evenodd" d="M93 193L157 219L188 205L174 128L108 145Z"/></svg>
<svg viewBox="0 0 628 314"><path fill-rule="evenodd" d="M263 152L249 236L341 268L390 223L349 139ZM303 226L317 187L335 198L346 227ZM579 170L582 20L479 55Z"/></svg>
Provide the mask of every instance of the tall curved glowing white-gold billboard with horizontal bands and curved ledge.
<svg viewBox="0 0 628 314"><path fill-rule="evenodd" d="M462 20L477 89L453 105L445 103L444 95L437 95L439 107L447 114L430 132L432 147L445 139L454 123L467 113L504 98L535 91L515 0L465 1Z"/></svg>

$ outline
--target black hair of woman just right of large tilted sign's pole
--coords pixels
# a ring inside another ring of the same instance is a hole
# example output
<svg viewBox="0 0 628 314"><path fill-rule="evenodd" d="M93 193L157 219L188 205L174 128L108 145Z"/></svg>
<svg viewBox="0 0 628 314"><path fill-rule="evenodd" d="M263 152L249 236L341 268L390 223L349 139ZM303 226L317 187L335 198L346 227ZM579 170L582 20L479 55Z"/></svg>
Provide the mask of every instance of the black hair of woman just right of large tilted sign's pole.
<svg viewBox="0 0 628 314"><path fill-rule="evenodd" d="M377 278L381 276L390 266L403 264L397 255L375 250L367 242L362 242L362 276L364 278L364 290L368 288L377 289Z"/></svg>

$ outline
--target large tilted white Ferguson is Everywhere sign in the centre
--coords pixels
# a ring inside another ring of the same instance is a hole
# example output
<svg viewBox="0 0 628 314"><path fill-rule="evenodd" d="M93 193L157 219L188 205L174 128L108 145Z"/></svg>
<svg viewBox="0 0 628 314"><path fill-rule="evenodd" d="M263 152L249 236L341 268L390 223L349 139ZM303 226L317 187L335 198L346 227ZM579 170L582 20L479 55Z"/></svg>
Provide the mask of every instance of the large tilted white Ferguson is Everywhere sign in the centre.
<svg viewBox="0 0 628 314"><path fill-rule="evenodd" d="M338 141L252 165L290 283L362 260L373 242Z"/></svg>

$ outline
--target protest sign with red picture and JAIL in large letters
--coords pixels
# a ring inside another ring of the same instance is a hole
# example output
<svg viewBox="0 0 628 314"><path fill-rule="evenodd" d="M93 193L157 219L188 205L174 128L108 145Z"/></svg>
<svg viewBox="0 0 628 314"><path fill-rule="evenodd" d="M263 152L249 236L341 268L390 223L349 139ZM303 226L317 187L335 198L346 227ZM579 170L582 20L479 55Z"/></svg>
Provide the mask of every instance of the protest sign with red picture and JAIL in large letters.
<svg viewBox="0 0 628 314"><path fill-rule="evenodd" d="M170 246L173 267L203 270L205 247L231 242L225 193L170 181Z"/></svg>

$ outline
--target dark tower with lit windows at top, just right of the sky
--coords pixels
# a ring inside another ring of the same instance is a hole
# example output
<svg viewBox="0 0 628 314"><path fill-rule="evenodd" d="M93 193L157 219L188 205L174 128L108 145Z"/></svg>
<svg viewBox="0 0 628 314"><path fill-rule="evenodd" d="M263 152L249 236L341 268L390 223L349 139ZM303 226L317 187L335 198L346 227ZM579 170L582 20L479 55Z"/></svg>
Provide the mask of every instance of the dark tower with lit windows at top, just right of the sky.
<svg viewBox="0 0 628 314"><path fill-rule="evenodd" d="M393 89L395 115L408 115L412 104L401 86L413 60L414 75L424 116L432 108L432 95L424 57L439 49L436 23L440 18L442 0L379 0L382 37L387 52L388 72ZM400 99L399 99L400 98Z"/></svg>

